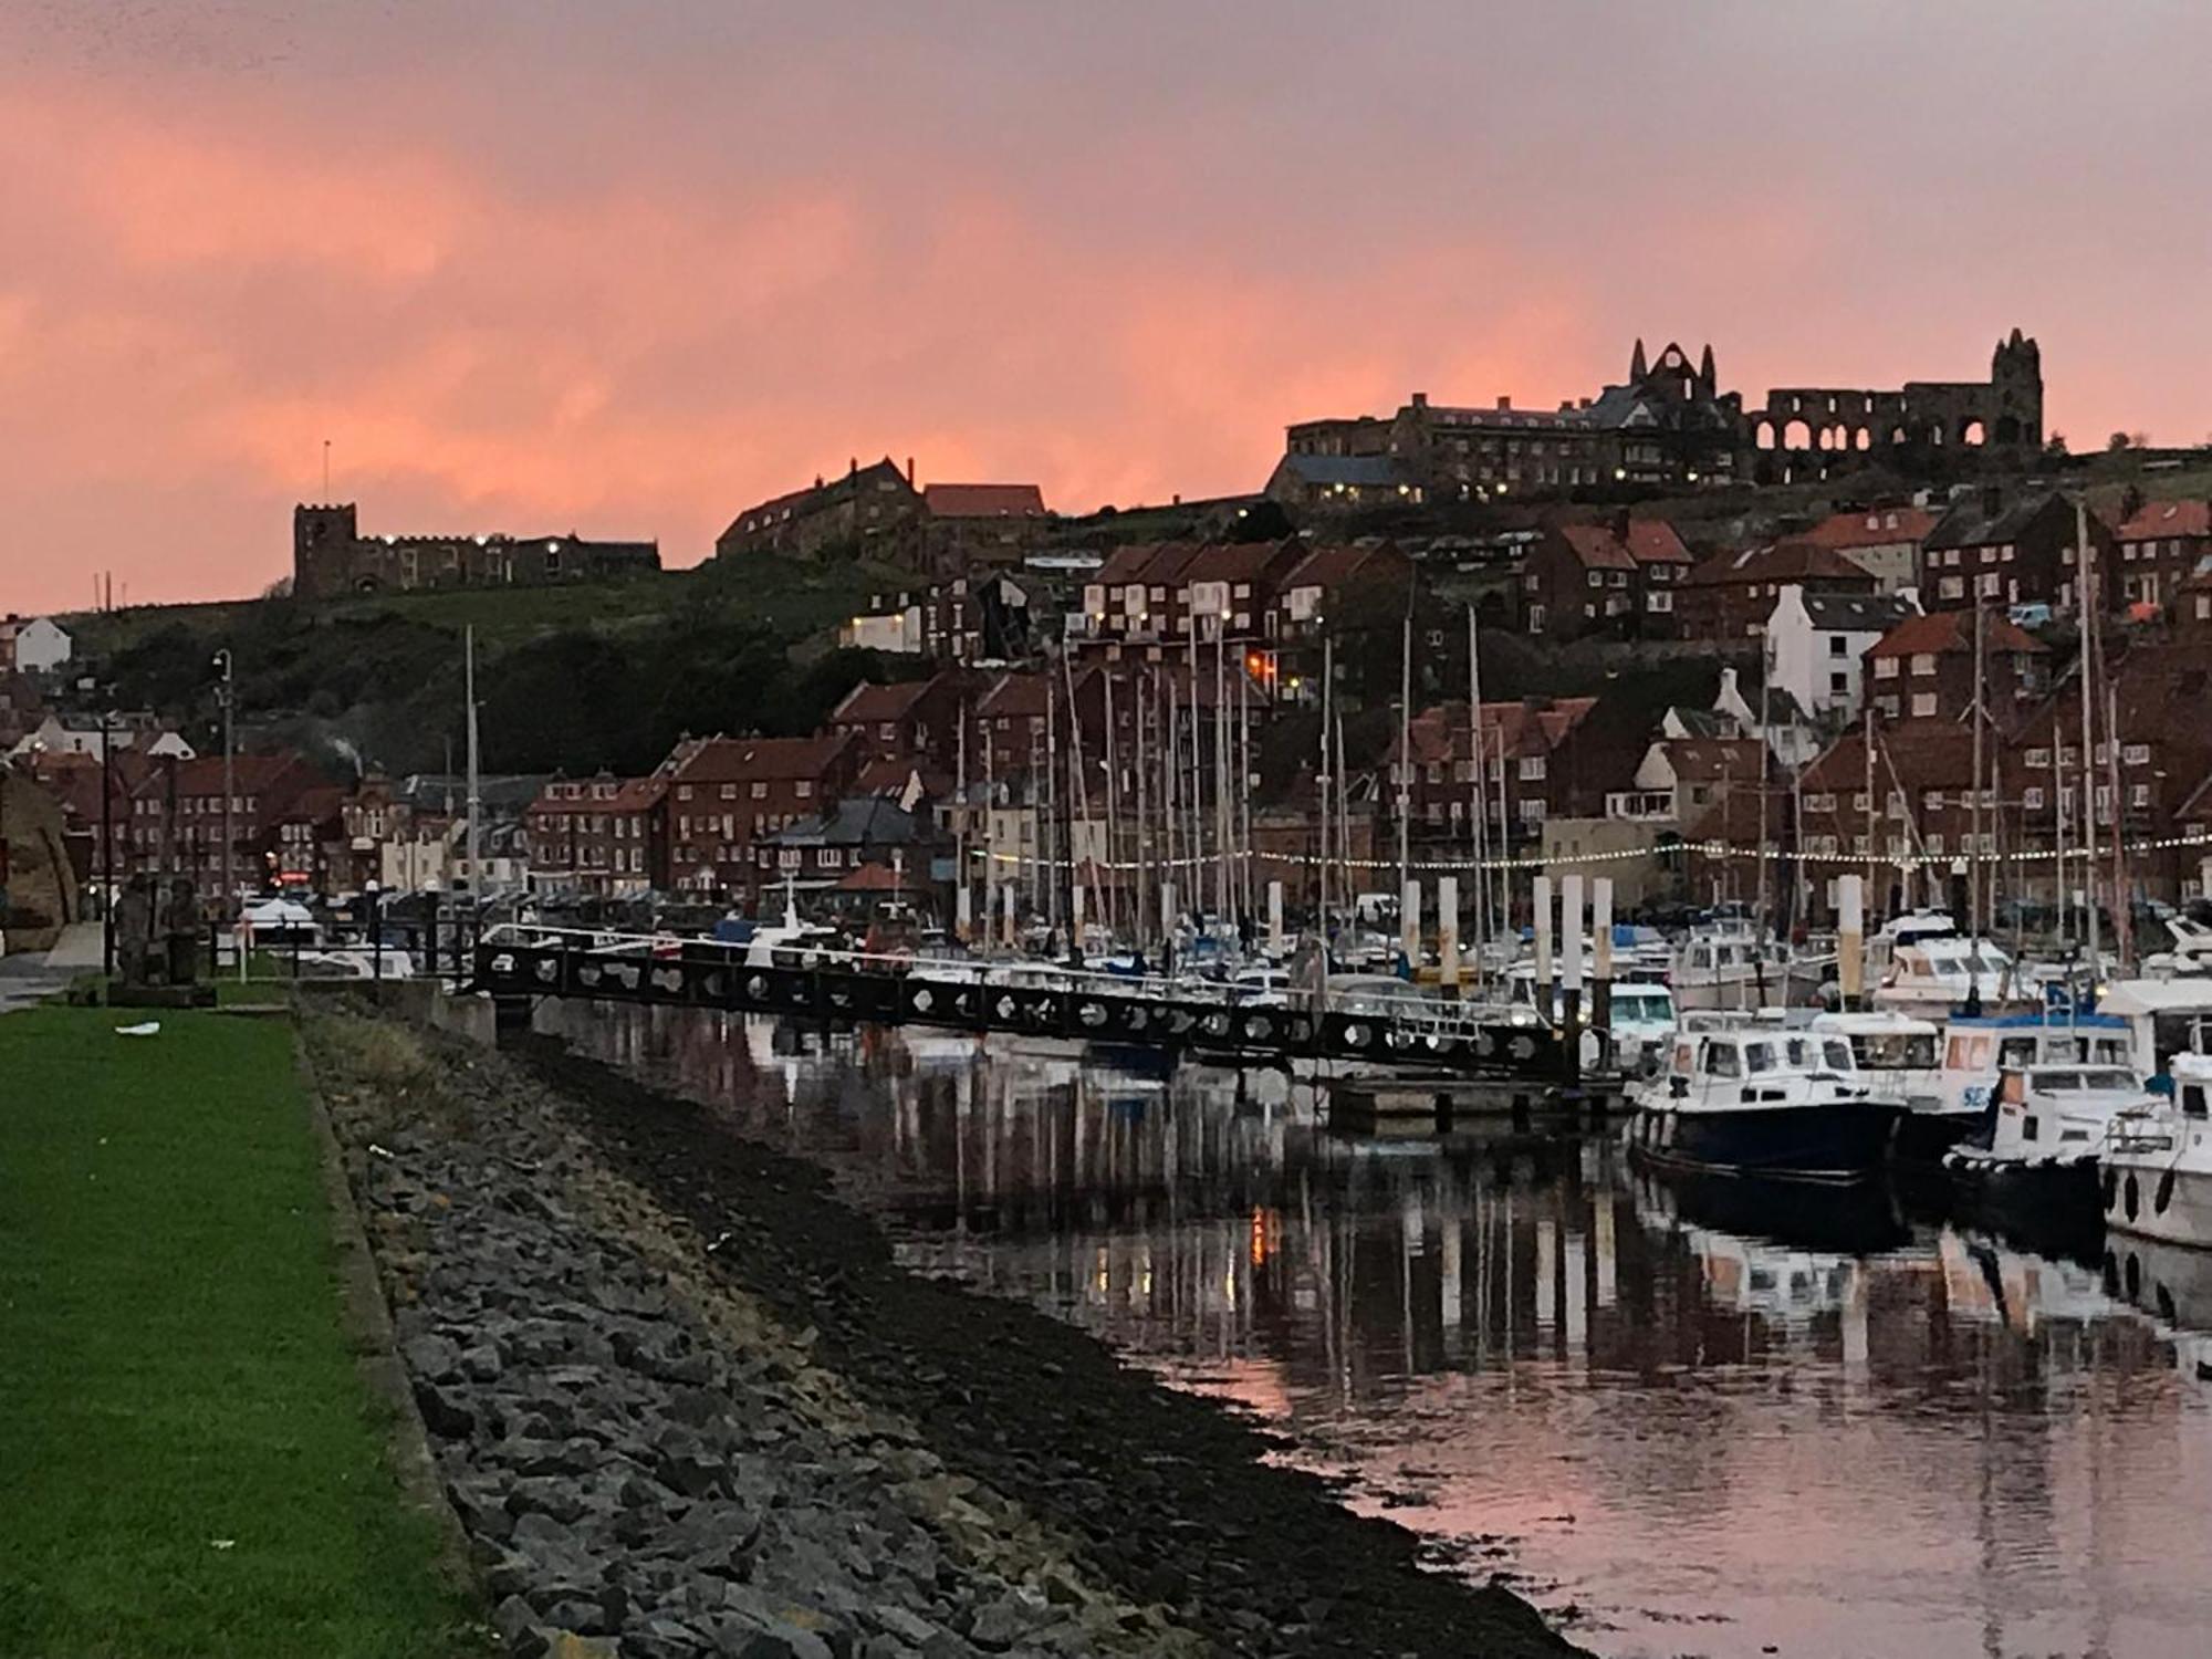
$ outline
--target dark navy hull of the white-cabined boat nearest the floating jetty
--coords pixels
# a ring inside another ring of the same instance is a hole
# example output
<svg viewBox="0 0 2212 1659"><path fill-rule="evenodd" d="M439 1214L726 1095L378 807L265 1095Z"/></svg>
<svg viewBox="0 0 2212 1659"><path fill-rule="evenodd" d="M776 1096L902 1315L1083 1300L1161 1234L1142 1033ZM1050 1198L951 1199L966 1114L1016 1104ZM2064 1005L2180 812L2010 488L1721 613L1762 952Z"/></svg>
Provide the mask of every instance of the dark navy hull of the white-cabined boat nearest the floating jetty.
<svg viewBox="0 0 2212 1659"><path fill-rule="evenodd" d="M1637 1108L1628 1155L1657 1170L1849 1183L1878 1175L1900 1106L1818 1102L1686 1110Z"/></svg>

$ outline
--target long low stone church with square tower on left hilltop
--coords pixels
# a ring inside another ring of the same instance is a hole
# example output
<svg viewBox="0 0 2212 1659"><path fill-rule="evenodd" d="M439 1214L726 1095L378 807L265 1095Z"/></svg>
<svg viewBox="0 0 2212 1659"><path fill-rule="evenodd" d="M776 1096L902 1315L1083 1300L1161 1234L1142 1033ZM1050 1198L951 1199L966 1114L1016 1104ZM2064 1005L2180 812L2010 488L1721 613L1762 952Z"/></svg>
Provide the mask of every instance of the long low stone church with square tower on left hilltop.
<svg viewBox="0 0 2212 1659"><path fill-rule="evenodd" d="M661 568L659 542L566 535L363 535L354 502L292 509L292 595L520 588Z"/></svg>

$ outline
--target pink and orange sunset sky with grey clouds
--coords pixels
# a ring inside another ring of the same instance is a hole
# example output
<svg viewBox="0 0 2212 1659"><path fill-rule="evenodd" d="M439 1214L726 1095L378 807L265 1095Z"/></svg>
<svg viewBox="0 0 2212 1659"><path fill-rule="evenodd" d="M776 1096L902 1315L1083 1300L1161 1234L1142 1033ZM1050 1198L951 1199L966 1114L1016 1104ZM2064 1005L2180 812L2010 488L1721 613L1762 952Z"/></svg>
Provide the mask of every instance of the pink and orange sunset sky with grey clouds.
<svg viewBox="0 0 2212 1659"><path fill-rule="evenodd" d="M2212 434L2199 0L4 0L0 611L290 507L712 551L847 460L1066 511L1298 418L1980 378Z"/></svg>

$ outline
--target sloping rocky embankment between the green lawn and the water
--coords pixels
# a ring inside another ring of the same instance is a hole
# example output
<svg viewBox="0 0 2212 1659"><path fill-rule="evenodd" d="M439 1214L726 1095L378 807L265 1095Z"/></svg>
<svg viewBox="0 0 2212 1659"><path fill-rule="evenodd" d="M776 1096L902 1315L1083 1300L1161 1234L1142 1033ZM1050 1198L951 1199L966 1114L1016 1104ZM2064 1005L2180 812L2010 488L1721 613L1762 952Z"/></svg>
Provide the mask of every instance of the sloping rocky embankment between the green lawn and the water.
<svg viewBox="0 0 2212 1659"><path fill-rule="evenodd" d="M546 1044L307 1046L509 1652L1575 1652L701 1108Z"/></svg>

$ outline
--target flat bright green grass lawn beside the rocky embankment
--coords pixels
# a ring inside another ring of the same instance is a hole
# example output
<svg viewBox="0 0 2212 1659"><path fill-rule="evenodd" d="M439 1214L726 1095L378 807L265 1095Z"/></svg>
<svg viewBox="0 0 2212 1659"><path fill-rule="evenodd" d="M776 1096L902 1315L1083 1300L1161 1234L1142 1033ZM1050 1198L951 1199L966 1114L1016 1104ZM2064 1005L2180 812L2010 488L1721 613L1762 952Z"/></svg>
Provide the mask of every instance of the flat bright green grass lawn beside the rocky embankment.
<svg viewBox="0 0 2212 1659"><path fill-rule="evenodd" d="M338 1321L292 1026L0 1018L0 1652L451 1655Z"/></svg>

